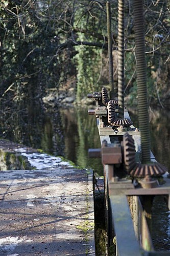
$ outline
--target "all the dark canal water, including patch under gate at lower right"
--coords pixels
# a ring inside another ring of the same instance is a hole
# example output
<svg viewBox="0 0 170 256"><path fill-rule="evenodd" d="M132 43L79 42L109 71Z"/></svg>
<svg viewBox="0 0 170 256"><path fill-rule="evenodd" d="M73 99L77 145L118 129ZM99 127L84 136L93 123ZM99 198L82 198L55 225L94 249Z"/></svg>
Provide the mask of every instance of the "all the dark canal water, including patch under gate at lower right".
<svg viewBox="0 0 170 256"><path fill-rule="evenodd" d="M87 107L48 111L47 115L34 115L24 127L20 119L14 130L1 133L3 137L39 148L48 154L63 156L83 168L92 168L103 176L101 159L88 157L88 148L100 148L100 138L94 116L87 115ZM138 127L136 109L128 108L131 120ZM150 109L151 149L158 162L170 170L170 112ZM157 223L155 225L155 223ZM157 250L170 250L170 211L162 198L154 201L153 241Z"/></svg>

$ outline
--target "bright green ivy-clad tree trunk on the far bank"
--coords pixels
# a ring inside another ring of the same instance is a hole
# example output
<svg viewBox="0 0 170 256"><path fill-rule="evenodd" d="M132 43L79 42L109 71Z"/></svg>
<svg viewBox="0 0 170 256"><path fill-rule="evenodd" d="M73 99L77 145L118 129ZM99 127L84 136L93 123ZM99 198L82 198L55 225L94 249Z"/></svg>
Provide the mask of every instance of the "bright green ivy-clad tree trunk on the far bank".
<svg viewBox="0 0 170 256"><path fill-rule="evenodd" d="M106 16L103 15L103 1L101 6L97 2L84 1L76 12L74 27L77 39L88 42L104 42L107 35ZM102 37L103 34L103 37ZM100 36L99 36L100 35ZM77 100L87 96L87 93L100 91L102 83L100 73L102 68L102 48L85 45L75 47L77 54L75 62L77 67Z"/></svg>

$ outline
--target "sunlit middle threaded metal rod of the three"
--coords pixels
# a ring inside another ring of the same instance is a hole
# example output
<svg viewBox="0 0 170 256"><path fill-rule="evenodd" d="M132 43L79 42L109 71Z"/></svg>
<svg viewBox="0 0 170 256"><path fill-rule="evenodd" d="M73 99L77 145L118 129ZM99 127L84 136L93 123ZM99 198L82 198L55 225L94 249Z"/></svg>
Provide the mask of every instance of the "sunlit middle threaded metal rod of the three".
<svg viewBox="0 0 170 256"><path fill-rule="evenodd" d="M118 0L118 118L124 118L124 0Z"/></svg>

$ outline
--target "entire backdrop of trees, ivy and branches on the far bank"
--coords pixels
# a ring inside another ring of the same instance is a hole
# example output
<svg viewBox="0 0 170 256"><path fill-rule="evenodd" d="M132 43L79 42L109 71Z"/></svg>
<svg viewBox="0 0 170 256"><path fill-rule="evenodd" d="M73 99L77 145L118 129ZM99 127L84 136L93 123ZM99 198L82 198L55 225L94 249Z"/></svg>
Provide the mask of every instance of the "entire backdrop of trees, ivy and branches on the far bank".
<svg viewBox="0 0 170 256"><path fill-rule="evenodd" d="M42 99L50 89L68 90L77 82L79 101L108 84L105 4L104 0L1 1L1 136L15 137L15 141L23 143L27 131L29 143L36 145L40 137L37 135L35 141L33 137L36 125L43 122L39 118L44 112ZM111 6L116 49L117 2L112 1ZM169 99L168 8L166 1L144 1L147 83L152 103ZM125 80L130 103L136 102L137 96L132 14L132 1L125 1Z"/></svg>

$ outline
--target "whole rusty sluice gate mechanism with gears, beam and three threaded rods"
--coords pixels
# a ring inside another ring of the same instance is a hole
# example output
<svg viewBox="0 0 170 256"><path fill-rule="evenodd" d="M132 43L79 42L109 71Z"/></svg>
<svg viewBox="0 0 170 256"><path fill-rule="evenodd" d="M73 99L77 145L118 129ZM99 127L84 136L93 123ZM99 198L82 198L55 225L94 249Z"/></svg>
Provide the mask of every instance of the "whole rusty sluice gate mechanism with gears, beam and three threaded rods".
<svg viewBox="0 0 170 256"><path fill-rule="evenodd" d="M107 1L108 40L111 39L110 1ZM109 52L110 97L105 88L88 94L96 101L95 115L101 148L89 149L90 157L101 157L104 166L106 203L106 255L116 245L116 255L170 255L155 251L152 244L152 205L162 196L170 210L167 168L158 163L150 148L147 76L142 1L134 0L136 75L139 129L124 106L124 0L118 1L118 100L114 97L111 44Z"/></svg>

